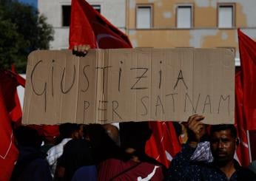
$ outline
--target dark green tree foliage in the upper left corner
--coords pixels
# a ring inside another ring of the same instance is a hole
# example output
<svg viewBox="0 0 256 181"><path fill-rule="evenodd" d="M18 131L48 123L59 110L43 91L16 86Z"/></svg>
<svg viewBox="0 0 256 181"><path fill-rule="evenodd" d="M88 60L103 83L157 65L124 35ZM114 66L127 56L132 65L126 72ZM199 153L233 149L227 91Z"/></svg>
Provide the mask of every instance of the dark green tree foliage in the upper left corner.
<svg viewBox="0 0 256 181"><path fill-rule="evenodd" d="M0 0L0 67L24 73L27 55L36 49L49 49L53 27L35 7L18 1Z"/></svg>

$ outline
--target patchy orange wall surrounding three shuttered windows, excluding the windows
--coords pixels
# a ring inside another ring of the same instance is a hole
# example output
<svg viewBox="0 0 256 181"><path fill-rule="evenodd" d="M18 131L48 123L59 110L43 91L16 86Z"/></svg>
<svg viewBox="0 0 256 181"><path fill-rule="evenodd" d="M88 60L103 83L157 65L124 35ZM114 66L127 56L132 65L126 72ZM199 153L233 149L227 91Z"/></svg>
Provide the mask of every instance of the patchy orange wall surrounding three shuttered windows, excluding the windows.
<svg viewBox="0 0 256 181"><path fill-rule="evenodd" d="M218 4L235 4L235 27L218 28ZM136 6L152 5L152 28L136 29ZM192 4L193 27L176 28L176 6ZM134 47L235 48L238 54L237 29L241 27L256 40L255 0L127 0L127 34Z"/></svg>

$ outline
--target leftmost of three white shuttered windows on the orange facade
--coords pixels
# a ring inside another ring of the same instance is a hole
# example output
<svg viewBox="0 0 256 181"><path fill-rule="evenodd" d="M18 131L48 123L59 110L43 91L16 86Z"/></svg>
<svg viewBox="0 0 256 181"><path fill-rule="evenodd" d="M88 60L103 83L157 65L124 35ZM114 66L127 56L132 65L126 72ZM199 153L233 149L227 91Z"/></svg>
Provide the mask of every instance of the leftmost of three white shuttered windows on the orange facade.
<svg viewBox="0 0 256 181"><path fill-rule="evenodd" d="M136 27L152 27L152 6L138 6L136 11Z"/></svg>

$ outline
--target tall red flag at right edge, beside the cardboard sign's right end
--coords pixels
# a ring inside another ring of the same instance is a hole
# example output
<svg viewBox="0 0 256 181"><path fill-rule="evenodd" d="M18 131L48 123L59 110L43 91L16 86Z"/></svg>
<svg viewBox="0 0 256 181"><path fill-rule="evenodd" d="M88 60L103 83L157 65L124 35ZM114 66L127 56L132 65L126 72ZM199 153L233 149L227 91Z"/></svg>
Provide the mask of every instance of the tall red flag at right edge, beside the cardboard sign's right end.
<svg viewBox="0 0 256 181"><path fill-rule="evenodd" d="M256 129L256 42L238 29L246 129Z"/></svg>

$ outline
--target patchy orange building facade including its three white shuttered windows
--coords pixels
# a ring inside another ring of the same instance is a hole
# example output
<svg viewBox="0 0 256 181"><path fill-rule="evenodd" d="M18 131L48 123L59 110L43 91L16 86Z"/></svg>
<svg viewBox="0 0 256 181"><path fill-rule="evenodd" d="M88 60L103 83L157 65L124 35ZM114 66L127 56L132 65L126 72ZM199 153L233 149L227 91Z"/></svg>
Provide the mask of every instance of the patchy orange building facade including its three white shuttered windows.
<svg viewBox="0 0 256 181"><path fill-rule="evenodd" d="M129 0L127 5L134 47L229 48L239 65L238 27L256 39L253 0Z"/></svg>

